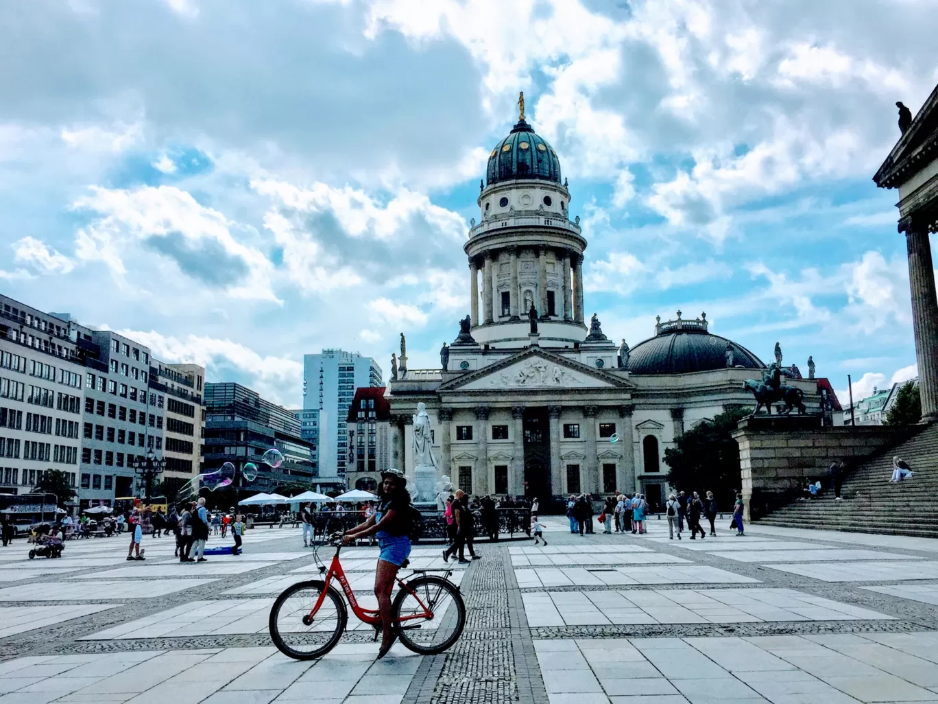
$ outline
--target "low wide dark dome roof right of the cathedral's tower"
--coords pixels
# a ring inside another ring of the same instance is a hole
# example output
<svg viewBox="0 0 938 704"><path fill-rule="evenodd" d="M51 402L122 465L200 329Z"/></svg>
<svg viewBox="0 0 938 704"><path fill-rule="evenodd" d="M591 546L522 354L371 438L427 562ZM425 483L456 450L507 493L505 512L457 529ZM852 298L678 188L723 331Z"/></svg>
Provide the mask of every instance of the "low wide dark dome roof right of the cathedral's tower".
<svg viewBox="0 0 938 704"><path fill-rule="evenodd" d="M705 330L663 332L628 351L632 374L687 374L726 367L726 345L733 349L734 366L764 369L762 360L746 347Z"/></svg>

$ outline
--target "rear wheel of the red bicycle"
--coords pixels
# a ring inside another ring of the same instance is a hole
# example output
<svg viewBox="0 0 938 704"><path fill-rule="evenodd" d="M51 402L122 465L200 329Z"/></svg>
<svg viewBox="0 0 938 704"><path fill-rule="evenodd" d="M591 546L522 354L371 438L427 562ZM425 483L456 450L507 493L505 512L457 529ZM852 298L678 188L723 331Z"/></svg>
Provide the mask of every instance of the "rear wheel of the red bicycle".
<svg viewBox="0 0 938 704"><path fill-rule="evenodd" d="M430 616L423 616L429 611ZM421 655L449 648L462 634L466 607L459 588L443 577L425 574L407 582L391 605L401 643Z"/></svg>

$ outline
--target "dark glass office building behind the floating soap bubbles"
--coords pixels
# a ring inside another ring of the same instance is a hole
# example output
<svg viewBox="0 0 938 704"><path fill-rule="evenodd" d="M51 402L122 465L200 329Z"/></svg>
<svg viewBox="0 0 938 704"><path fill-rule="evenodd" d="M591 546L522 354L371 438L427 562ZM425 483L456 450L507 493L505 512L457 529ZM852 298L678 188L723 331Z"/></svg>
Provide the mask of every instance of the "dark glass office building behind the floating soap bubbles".
<svg viewBox="0 0 938 704"><path fill-rule="evenodd" d="M315 486L312 445L302 438L300 421L292 412L234 382L209 383L204 389L204 471L231 462L238 470L236 486L256 491L273 491L284 483ZM271 448L283 454L280 467L269 467L262 460ZM249 462L258 468L252 482L242 473Z"/></svg>

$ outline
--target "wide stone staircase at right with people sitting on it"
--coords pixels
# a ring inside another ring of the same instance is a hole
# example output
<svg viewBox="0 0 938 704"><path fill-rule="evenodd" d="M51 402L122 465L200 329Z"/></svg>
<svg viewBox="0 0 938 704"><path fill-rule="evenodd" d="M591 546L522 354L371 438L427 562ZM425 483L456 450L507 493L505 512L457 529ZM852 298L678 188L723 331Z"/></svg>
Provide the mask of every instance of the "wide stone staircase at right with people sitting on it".
<svg viewBox="0 0 938 704"><path fill-rule="evenodd" d="M915 476L889 483L898 454ZM938 424L899 445L879 451L849 471L834 499L829 479L813 499L794 501L758 521L759 525L818 528L938 538Z"/></svg>

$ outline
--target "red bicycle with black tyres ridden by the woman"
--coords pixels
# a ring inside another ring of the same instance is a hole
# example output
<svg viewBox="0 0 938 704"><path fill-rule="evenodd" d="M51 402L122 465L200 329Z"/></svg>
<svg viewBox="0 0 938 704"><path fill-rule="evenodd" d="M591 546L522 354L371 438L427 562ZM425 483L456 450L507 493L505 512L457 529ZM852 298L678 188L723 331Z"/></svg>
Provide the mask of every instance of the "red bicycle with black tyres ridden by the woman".
<svg viewBox="0 0 938 704"><path fill-rule="evenodd" d="M320 545L336 548L328 571L320 562ZM325 580L299 582L283 591L270 608L270 637L280 652L296 660L313 660L336 647L348 625L348 609L341 594L332 584L338 580L345 598L358 620L374 629L374 639L381 633L381 617L377 609L363 608L356 600L339 561L341 541L329 540L316 545L314 555L319 574ZM406 566L406 562L403 566ZM466 607L459 587L447 577L453 573L427 574L414 570L417 576L408 581L398 577L398 593L391 603L394 631L401 643L422 655L435 655L455 643L465 626ZM410 576L410 575L409 575Z"/></svg>

